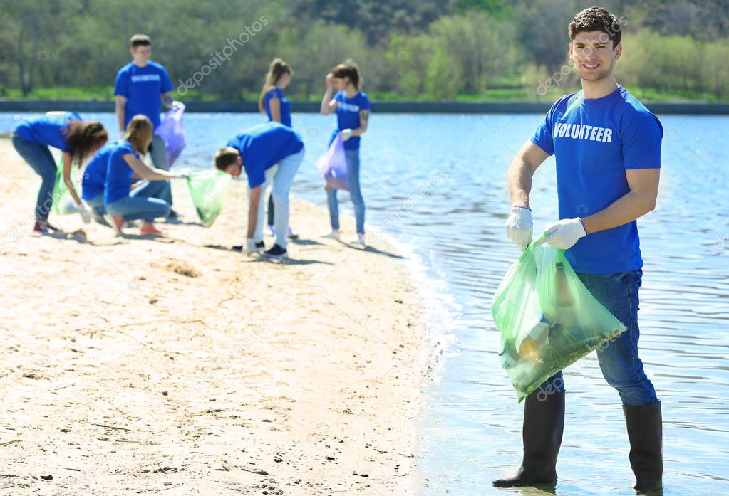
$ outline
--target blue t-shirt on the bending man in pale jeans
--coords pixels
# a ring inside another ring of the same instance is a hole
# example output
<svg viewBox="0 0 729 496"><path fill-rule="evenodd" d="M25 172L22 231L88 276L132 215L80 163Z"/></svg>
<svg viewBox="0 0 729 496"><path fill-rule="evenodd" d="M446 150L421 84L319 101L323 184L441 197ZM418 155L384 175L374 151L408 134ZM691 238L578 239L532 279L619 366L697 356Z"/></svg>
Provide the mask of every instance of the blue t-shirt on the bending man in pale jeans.
<svg viewBox="0 0 729 496"><path fill-rule="evenodd" d="M227 146L241 152L251 188L265 183L267 169L304 149L299 133L273 121L243 131L228 141Z"/></svg>

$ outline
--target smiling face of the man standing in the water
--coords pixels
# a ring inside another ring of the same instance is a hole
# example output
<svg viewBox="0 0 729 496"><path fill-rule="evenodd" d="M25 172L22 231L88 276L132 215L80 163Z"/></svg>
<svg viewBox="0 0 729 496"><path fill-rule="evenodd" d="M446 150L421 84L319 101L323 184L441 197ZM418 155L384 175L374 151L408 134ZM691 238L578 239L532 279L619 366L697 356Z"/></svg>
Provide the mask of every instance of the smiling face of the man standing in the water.
<svg viewBox="0 0 729 496"><path fill-rule="evenodd" d="M580 77L586 81L599 81L612 74L623 45L617 44L613 48L612 40L603 31L582 31L574 36L568 50Z"/></svg>

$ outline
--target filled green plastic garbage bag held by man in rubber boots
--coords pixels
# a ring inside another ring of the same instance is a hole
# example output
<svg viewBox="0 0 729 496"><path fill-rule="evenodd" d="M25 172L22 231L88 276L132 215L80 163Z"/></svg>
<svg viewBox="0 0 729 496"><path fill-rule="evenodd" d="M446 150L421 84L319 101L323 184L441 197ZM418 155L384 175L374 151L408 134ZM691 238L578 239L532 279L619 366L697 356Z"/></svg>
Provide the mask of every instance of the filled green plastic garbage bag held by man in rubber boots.
<svg viewBox="0 0 729 496"><path fill-rule="evenodd" d="M496 290L491 314L501 331L499 359L518 401L625 326L574 273L564 250L531 243Z"/></svg>

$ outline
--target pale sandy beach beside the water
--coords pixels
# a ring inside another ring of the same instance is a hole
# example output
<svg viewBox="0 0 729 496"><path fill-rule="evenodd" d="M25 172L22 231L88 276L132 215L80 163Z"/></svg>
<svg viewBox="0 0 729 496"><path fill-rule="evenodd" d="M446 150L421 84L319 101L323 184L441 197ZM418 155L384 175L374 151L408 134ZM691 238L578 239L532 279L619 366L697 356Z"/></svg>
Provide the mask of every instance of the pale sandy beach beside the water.
<svg viewBox="0 0 729 496"><path fill-rule="evenodd" d="M415 494L429 349L394 247L295 201L291 261L231 251L241 181L211 228L176 180L163 237L35 235L39 177L0 163L0 494Z"/></svg>

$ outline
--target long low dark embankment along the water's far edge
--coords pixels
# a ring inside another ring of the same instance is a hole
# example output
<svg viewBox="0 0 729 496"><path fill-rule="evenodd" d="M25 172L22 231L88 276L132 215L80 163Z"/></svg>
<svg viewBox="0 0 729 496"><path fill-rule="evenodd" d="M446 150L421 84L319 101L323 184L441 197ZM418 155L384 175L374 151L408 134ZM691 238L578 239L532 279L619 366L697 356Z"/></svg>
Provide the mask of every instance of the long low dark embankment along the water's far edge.
<svg viewBox="0 0 729 496"><path fill-rule="evenodd" d="M543 102L388 102L374 101L381 114L545 114L552 101ZM187 113L258 113L255 101L184 101ZM292 111L319 113L319 102L292 101ZM113 101L0 100L0 112L44 112L50 109L78 112L114 112ZM655 114L729 115L729 103L645 103Z"/></svg>

